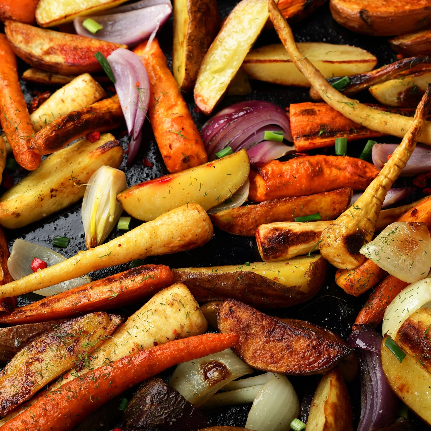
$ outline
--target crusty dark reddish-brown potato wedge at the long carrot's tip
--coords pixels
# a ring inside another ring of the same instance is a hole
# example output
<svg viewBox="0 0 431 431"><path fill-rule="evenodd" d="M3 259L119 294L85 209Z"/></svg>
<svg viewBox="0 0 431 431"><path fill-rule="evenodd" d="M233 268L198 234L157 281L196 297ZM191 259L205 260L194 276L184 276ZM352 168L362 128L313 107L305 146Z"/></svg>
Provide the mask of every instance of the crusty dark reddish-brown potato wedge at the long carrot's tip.
<svg viewBox="0 0 431 431"><path fill-rule="evenodd" d="M350 353L347 344L334 341L337 336L328 329L298 320L281 322L233 298L220 306L218 325L222 333L238 333L239 342L232 350L263 371L319 374Z"/></svg>

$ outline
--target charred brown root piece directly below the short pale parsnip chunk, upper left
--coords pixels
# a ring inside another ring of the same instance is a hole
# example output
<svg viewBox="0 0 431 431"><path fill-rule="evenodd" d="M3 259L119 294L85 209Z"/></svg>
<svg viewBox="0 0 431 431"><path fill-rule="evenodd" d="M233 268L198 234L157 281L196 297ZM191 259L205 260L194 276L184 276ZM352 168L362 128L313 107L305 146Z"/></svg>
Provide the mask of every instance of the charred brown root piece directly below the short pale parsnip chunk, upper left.
<svg viewBox="0 0 431 431"><path fill-rule="evenodd" d="M39 130L30 141L38 154L50 154L87 134L106 132L124 122L117 96L68 112Z"/></svg>

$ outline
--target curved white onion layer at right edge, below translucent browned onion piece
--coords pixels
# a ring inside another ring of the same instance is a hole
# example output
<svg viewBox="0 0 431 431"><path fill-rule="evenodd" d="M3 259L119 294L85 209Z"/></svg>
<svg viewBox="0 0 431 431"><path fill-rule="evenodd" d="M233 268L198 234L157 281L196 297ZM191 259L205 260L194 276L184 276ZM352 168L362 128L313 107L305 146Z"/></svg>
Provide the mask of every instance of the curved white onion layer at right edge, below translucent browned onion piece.
<svg viewBox="0 0 431 431"><path fill-rule="evenodd" d="M381 328L383 336L387 334L394 339L406 319L422 307L431 308L430 274L423 280L409 284L387 306Z"/></svg>

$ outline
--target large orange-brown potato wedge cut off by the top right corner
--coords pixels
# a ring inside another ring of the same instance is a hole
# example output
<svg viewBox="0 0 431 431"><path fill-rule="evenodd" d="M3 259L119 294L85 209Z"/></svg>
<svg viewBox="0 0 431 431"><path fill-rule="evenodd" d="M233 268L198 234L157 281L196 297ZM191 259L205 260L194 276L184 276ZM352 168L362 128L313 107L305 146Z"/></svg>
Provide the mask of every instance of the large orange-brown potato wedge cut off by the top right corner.
<svg viewBox="0 0 431 431"><path fill-rule="evenodd" d="M331 0L332 17L352 31L372 36L393 36L427 27L431 1Z"/></svg>

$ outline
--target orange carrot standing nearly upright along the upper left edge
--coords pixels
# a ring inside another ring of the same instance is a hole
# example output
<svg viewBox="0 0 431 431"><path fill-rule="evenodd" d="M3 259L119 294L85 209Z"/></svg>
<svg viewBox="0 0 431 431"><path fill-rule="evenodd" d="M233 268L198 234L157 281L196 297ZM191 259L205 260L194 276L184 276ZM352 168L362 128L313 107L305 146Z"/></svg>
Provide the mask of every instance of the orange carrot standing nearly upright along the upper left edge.
<svg viewBox="0 0 431 431"><path fill-rule="evenodd" d="M41 156L28 147L34 128L19 86L16 57L4 34L0 34L0 122L19 165L29 171L39 167Z"/></svg>

